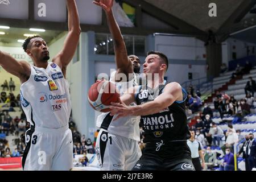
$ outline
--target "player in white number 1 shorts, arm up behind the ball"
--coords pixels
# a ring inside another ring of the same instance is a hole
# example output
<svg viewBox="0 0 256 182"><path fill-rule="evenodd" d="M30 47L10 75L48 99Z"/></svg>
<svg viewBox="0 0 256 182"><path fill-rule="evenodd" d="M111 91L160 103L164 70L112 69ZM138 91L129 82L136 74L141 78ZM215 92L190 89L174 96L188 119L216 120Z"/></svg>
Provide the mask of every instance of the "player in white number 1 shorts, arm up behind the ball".
<svg viewBox="0 0 256 182"><path fill-rule="evenodd" d="M139 73L139 59L134 55L127 57L125 42L112 12L113 0L94 1L94 3L105 10L108 19L117 65L117 71L112 73L110 81L117 85L122 94L129 87L137 85L135 73ZM113 122L114 118L110 113L101 114L97 118L97 127L101 128L96 142L97 158L101 170L131 170L141 157L141 149L138 145L140 117L125 117Z"/></svg>

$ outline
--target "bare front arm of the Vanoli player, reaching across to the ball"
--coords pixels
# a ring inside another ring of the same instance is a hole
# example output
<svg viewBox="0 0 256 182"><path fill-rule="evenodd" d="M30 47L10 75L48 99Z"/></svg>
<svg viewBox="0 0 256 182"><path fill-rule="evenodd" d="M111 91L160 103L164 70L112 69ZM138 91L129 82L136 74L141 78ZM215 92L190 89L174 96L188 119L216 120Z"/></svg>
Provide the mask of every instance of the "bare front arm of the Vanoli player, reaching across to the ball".
<svg viewBox="0 0 256 182"><path fill-rule="evenodd" d="M172 82L166 85L164 92L155 98L154 101L147 102L138 106L127 106L125 103L112 103L110 106L111 115L118 114L117 118L125 117L126 115L150 115L158 113L172 105L176 100L182 97L181 86L177 82ZM123 96L121 97L121 101Z"/></svg>

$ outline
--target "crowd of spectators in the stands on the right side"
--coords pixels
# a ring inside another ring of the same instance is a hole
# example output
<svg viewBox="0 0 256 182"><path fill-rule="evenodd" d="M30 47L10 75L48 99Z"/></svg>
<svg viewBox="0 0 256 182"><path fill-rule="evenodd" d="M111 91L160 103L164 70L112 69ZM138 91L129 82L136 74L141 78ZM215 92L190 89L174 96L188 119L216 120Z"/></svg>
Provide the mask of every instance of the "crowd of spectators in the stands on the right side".
<svg viewBox="0 0 256 182"><path fill-rule="evenodd" d="M247 74L250 70L251 65L248 62L243 68L238 65L232 78ZM223 67L222 73L224 72L226 69ZM224 91L216 91L213 102L202 105L201 100L197 99L197 93L193 91L193 86L189 86L187 90L186 108L187 113L192 115L187 115L188 123L191 122L191 118L196 118L196 123L190 125L190 129L196 132L195 139L204 148L207 164L205 170L234 170L234 155L237 156L238 162L245 159L246 170L256 168L256 148L254 147L256 122L247 121L252 117L251 109L256 104L254 102L256 85L252 77L249 79L245 88L246 97L241 100L236 100L233 94L229 96ZM248 128L243 129L241 124ZM237 154L234 154L235 144L238 144Z"/></svg>

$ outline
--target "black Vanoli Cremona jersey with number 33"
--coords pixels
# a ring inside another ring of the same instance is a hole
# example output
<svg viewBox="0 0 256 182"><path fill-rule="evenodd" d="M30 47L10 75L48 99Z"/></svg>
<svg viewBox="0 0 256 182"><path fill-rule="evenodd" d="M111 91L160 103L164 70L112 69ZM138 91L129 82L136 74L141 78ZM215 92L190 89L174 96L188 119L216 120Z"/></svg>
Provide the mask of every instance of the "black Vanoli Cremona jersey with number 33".
<svg viewBox="0 0 256 182"><path fill-rule="evenodd" d="M155 100L166 85L158 88L148 88L147 85L140 86L136 98L138 105ZM183 101L175 101L172 105L156 114L141 115L141 126L145 131L143 142L154 142L155 140L184 141L190 138L185 114L185 99L187 93L183 90Z"/></svg>

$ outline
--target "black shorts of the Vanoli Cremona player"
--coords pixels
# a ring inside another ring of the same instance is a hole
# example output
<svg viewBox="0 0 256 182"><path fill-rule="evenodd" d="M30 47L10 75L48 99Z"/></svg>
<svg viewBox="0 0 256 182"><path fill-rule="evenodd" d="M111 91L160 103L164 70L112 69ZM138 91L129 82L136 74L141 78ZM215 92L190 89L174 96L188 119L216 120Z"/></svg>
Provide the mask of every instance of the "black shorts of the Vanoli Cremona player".
<svg viewBox="0 0 256 182"><path fill-rule="evenodd" d="M165 143L156 151L155 142L146 143L141 159L132 171L195 171L187 142Z"/></svg>

